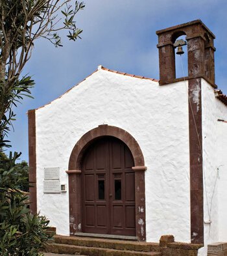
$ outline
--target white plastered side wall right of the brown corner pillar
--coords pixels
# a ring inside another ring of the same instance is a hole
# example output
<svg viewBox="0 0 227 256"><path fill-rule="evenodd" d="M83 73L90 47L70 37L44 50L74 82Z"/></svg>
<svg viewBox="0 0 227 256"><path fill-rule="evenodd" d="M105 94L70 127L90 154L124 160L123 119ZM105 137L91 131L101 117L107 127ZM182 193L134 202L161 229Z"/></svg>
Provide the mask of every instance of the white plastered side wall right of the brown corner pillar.
<svg viewBox="0 0 227 256"><path fill-rule="evenodd" d="M207 245L227 241L227 107L217 98L209 83L202 79L202 138L204 165L204 248L199 255L206 255ZM224 132L225 131L225 132ZM221 166L222 165L222 166ZM219 169L219 171L218 171Z"/></svg>

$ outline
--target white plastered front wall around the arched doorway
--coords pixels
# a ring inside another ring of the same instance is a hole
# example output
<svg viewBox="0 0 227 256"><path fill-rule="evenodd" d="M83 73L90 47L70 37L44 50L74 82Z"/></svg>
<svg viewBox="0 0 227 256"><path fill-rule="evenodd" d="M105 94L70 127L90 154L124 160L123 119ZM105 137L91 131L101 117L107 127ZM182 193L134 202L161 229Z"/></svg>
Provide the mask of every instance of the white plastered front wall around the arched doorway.
<svg viewBox="0 0 227 256"><path fill-rule="evenodd" d="M44 167L60 167L61 184L75 143L108 124L139 143L145 172L147 241L161 235L190 242L187 81L160 86L149 79L98 70L51 104L36 110L38 210L69 235L69 194L43 193Z"/></svg>

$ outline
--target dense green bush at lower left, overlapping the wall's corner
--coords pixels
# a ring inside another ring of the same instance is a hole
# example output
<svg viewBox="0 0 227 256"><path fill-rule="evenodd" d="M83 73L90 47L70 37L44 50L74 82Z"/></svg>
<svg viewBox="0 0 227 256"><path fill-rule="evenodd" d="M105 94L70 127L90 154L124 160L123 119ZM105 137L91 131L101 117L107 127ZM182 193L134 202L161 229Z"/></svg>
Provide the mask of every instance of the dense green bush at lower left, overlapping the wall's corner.
<svg viewBox="0 0 227 256"><path fill-rule="evenodd" d="M6 158L0 154L0 255L37 256L49 240L49 221L29 212L28 195L19 190L27 183L22 165L16 164L20 154Z"/></svg>

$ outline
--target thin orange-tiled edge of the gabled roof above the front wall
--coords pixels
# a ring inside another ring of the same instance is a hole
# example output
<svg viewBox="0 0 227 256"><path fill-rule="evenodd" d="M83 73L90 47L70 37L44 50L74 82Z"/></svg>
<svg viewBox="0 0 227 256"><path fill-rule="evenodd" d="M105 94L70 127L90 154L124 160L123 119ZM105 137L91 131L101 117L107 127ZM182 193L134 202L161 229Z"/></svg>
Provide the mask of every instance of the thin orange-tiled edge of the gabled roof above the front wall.
<svg viewBox="0 0 227 256"><path fill-rule="evenodd" d="M145 78L144 76L136 76L134 74L128 74L128 73L124 73L124 72L119 72L119 71L115 71L115 70L111 70L109 68L104 68L104 66L102 65L99 65L97 70L95 70L93 73L91 73L89 76L87 76L86 78L84 78L82 81L85 81L87 78L89 78L90 76L92 76L95 72L99 71L99 70L106 70L106 71L109 71L109 72L113 72L115 74L120 74L120 75L123 75L123 76L130 76L131 78L139 78L139 79L149 79L150 81L155 81L155 82L158 82L159 80L157 79L154 79L154 78ZM82 83L82 81L80 81L80 83ZM59 96L58 98L54 99L54 100L58 100L59 98L62 98L62 96L64 96L67 92L71 91L73 88L77 87L78 85L80 85L80 83L77 83L77 85L74 85L73 87L71 87L70 89L68 89L66 92L64 92L64 94L62 94L61 96ZM42 107L45 107L49 104L51 104L54 100L52 100L51 102L41 106L41 107L38 107L36 108L36 110L42 108Z"/></svg>

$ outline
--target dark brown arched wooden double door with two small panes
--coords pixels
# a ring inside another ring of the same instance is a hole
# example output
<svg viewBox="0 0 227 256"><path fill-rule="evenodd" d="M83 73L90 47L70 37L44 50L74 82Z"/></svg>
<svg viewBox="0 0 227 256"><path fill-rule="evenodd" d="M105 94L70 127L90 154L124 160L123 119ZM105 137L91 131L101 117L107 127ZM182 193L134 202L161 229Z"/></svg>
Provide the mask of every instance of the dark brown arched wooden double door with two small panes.
<svg viewBox="0 0 227 256"><path fill-rule="evenodd" d="M102 137L82 159L82 231L136 235L134 160L125 143Z"/></svg>

